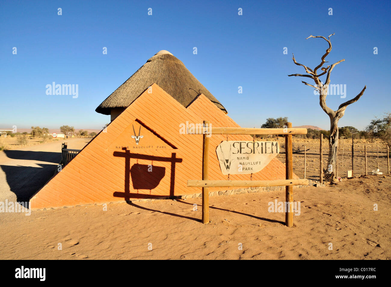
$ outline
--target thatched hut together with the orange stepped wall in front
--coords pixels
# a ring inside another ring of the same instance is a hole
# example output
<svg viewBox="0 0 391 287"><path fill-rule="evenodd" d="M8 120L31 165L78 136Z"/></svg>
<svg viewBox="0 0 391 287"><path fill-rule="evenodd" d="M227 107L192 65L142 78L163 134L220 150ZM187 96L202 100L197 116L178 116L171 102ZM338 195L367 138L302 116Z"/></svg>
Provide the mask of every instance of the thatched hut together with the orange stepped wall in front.
<svg viewBox="0 0 391 287"><path fill-rule="evenodd" d="M187 180L202 178L203 137L180 134L180 125L208 120L212 126L239 127L224 106L167 51L149 59L96 111L111 115L111 123L30 199L33 209L196 197L201 190L188 188ZM252 137L230 135L229 139L251 141ZM210 138L210 180L227 179L212 148L225 140L224 135ZM239 174L230 179L249 177ZM252 178L285 179L285 165L274 158ZM209 191L215 195L221 188Z"/></svg>

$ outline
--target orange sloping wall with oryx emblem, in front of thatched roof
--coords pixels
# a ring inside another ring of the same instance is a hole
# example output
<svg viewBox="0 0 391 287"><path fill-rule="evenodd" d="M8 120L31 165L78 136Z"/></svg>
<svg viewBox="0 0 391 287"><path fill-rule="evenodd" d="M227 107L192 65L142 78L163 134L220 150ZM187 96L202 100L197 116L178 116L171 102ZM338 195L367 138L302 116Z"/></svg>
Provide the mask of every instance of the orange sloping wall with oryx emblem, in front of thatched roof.
<svg viewBox="0 0 391 287"><path fill-rule="evenodd" d="M202 179L202 135L179 134L181 123L239 126L204 95L185 108L158 85L129 105L31 199L31 207L49 208L140 198L200 193L188 188L188 179ZM141 126L139 144L135 143ZM209 179L222 175L215 147L224 135L210 138ZM252 140L229 135L228 140ZM152 171L150 170L152 168ZM248 180L250 175L231 175ZM296 175L295 178L298 178ZM285 165L274 158L253 180L285 179ZM209 188L210 191L222 188Z"/></svg>

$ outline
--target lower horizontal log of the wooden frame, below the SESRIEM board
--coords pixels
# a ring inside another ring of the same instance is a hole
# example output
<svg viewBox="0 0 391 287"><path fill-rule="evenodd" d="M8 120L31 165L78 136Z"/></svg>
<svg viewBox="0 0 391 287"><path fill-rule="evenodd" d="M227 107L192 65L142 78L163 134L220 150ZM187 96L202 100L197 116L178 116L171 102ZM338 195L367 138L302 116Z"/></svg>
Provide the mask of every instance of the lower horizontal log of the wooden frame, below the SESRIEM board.
<svg viewBox="0 0 391 287"><path fill-rule="evenodd" d="M308 185L308 179L278 179L276 181L202 181L189 179L188 187L256 187Z"/></svg>

